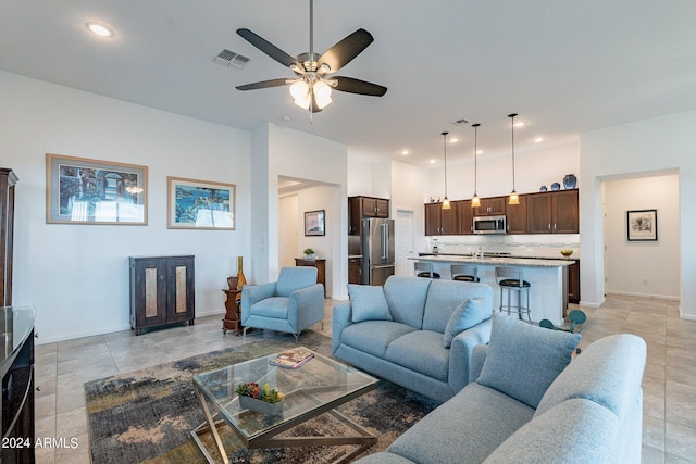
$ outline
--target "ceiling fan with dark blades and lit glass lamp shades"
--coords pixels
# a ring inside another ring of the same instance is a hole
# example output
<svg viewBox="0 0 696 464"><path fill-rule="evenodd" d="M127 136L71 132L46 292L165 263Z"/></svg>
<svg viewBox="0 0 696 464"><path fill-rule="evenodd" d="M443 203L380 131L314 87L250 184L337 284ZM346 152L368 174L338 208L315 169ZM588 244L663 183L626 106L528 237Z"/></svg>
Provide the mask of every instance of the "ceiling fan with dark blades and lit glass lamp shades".
<svg viewBox="0 0 696 464"><path fill-rule="evenodd" d="M290 95L295 103L311 113L322 111L332 102L332 89L359 93L371 97L382 97L387 88L368 83L365 80L353 79L352 77L330 76L343 66L348 64L360 54L374 38L365 29L358 29L338 43L326 50L323 54L314 53L314 1L309 2L309 52L302 53L297 59L290 57L273 43L263 39L249 29L237 29L237 34L249 43L287 66L295 73L295 78L281 78L262 80L260 83L237 86L237 90L256 90L269 87L279 87L289 85ZM310 117L311 120L311 117Z"/></svg>

